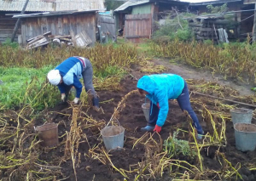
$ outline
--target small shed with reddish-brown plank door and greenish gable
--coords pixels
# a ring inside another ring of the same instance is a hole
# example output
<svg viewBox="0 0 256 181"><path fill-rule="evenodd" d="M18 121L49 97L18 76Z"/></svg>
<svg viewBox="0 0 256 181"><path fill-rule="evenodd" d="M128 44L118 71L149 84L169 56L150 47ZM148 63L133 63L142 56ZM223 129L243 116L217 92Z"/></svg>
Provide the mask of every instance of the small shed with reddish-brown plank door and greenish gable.
<svg viewBox="0 0 256 181"><path fill-rule="evenodd" d="M175 0L142 0L128 1L114 10L117 28L124 29L125 39L131 42L141 42L150 38L155 30L155 21L160 20L160 14L171 11L172 8L186 10L187 2Z"/></svg>

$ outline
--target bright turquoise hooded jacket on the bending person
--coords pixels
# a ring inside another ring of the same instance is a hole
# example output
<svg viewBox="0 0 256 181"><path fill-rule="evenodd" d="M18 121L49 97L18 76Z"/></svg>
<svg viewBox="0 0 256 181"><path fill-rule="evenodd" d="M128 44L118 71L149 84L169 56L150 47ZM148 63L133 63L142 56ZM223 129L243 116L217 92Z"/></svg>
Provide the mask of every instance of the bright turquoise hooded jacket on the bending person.
<svg viewBox="0 0 256 181"><path fill-rule="evenodd" d="M159 103L160 111L156 124L162 127L166 122L169 111L169 99L177 99L184 88L183 77L175 74L158 74L143 76L137 82L137 88L147 91L147 98L154 105Z"/></svg>

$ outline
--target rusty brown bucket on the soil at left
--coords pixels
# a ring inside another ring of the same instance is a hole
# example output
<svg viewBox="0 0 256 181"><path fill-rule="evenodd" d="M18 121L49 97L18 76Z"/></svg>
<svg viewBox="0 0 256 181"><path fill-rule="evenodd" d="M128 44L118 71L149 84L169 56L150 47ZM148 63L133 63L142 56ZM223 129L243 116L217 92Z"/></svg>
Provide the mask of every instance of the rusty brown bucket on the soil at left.
<svg viewBox="0 0 256 181"><path fill-rule="evenodd" d="M53 147L59 144L58 139L58 124L49 123L43 126L35 127L36 133L38 133L39 139L42 140L41 145L46 147Z"/></svg>

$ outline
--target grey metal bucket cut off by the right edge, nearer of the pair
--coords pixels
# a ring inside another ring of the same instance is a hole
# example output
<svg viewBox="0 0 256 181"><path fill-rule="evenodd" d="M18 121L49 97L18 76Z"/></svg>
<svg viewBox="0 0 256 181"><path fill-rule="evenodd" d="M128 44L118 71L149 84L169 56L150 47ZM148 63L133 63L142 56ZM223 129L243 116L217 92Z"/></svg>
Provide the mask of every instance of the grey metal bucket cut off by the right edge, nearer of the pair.
<svg viewBox="0 0 256 181"><path fill-rule="evenodd" d="M241 151L255 150L256 125L236 123L235 126L236 149Z"/></svg>

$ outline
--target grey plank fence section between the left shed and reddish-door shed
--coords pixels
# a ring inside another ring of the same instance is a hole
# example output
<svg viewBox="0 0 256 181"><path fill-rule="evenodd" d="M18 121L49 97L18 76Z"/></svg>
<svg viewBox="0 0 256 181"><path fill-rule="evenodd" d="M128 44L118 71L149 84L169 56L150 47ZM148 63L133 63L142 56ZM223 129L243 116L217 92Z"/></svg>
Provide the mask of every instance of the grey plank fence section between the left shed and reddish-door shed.
<svg viewBox="0 0 256 181"><path fill-rule="evenodd" d="M116 38L115 17L99 15L98 24L101 25L103 33L109 33L112 37Z"/></svg>

